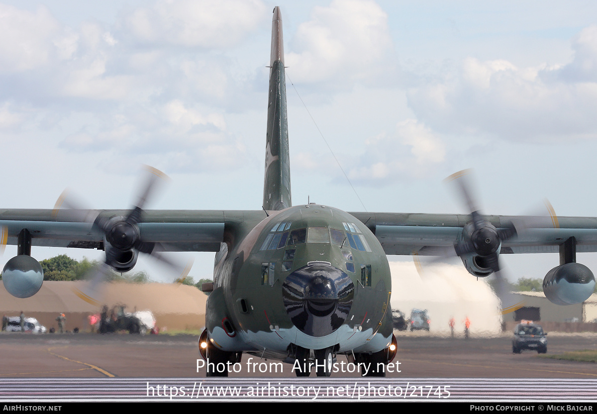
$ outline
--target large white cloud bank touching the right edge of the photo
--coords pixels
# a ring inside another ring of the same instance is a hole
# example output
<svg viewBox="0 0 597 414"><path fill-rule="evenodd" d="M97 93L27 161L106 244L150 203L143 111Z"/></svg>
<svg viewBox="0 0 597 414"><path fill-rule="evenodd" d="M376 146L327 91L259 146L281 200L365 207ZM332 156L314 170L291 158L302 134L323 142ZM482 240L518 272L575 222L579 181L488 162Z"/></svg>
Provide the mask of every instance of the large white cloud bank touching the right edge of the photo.
<svg viewBox="0 0 597 414"><path fill-rule="evenodd" d="M466 58L459 72L411 88L408 103L438 133L514 141L597 138L597 27L573 41L568 64L517 67Z"/></svg>

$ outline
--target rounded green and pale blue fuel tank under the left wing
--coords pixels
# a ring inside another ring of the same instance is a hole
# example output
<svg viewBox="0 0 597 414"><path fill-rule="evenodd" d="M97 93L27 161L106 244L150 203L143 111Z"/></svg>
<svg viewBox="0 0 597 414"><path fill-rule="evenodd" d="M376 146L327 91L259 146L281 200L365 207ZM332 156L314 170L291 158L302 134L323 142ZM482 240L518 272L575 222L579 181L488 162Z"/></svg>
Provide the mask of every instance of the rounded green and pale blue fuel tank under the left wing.
<svg viewBox="0 0 597 414"><path fill-rule="evenodd" d="M2 270L4 287L17 298L29 298L35 295L44 282L44 270L39 262L27 255L10 259Z"/></svg>

